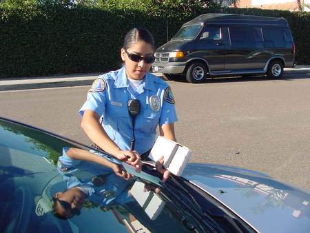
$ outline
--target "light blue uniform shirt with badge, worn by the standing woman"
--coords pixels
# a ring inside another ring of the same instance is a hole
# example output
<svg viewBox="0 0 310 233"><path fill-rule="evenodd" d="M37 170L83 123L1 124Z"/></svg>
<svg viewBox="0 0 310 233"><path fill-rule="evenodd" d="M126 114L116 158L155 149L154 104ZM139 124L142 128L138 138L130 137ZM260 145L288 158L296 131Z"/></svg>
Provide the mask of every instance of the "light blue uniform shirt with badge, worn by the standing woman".
<svg viewBox="0 0 310 233"><path fill-rule="evenodd" d="M157 96L155 99L158 99L160 108L154 108L153 102L150 102L152 96ZM125 66L120 70L103 74L94 81L79 113L83 115L85 110L93 110L99 114L103 117L102 125L110 139L121 150L130 150L133 139L132 117L127 108L130 99L138 99L141 103L134 126L134 150L143 154L154 145L157 125L178 121L173 94L169 85L162 79L147 73L134 92L127 80Z"/></svg>

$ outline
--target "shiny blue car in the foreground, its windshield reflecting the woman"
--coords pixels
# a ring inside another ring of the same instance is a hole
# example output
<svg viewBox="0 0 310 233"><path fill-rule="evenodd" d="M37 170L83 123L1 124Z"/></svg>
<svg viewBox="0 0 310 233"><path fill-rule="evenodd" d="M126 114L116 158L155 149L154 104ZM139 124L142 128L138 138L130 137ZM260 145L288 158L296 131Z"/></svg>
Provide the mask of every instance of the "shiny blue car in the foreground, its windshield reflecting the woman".
<svg viewBox="0 0 310 233"><path fill-rule="evenodd" d="M310 232L309 192L266 174L189 163L182 176L161 183L145 165L140 174L127 169L136 174L127 181L104 166L93 164L96 174L81 163L68 168L59 163L63 148L122 166L86 145L0 118L0 232ZM74 192L92 190L74 207L55 195L72 182L80 184ZM70 216L57 214L56 205Z"/></svg>

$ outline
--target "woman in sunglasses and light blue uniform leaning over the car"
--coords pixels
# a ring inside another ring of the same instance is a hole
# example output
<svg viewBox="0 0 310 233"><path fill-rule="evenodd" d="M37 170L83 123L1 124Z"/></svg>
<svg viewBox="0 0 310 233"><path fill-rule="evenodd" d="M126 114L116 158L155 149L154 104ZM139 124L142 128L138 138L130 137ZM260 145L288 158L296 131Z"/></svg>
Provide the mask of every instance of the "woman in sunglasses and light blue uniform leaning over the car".
<svg viewBox="0 0 310 233"><path fill-rule="evenodd" d="M140 155L145 159L152 148L158 125L161 136L176 141L175 101L169 85L148 72L154 62L154 38L148 30L127 32L121 58L123 68L94 81L79 111L81 127L102 150L140 168ZM134 119L127 106L131 99L140 102Z"/></svg>

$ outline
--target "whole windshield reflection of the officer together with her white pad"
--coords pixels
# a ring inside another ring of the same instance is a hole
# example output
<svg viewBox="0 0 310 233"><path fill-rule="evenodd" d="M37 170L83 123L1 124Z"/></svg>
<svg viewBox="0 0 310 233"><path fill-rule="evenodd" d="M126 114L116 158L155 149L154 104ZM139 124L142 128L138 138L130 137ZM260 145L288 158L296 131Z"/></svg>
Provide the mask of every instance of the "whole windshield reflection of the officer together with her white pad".
<svg viewBox="0 0 310 233"><path fill-rule="evenodd" d="M96 163L90 163L92 157ZM102 158L100 161L98 158ZM85 158L88 161L81 160ZM76 148L63 148L57 170L67 189L53 195L52 213L60 219L73 219L85 214L84 209L99 208L113 212L119 223L136 232L188 232L181 223L184 216L166 205L161 188L137 177L121 176L121 163L105 154ZM125 172L125 171L123 171Z"/></svg>

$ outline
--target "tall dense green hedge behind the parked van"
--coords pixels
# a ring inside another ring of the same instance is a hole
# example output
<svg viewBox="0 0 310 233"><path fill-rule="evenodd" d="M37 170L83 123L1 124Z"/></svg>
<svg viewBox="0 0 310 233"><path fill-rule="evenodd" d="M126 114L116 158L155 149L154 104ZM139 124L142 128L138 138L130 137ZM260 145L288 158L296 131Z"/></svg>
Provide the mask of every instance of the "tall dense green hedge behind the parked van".
<svg viewBox="0 0 310 233"><path fill-rule="evenodd" d="M227 12L285 17L296 41L298 63L309 63L310 14L288 11L154 6L147 10L75 6L8 7L0 5L0 77L104 72L121 66L125 33L148 28L156 46L199 14Z"/></svg>

